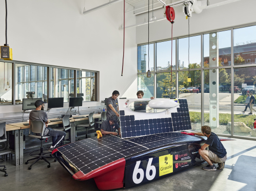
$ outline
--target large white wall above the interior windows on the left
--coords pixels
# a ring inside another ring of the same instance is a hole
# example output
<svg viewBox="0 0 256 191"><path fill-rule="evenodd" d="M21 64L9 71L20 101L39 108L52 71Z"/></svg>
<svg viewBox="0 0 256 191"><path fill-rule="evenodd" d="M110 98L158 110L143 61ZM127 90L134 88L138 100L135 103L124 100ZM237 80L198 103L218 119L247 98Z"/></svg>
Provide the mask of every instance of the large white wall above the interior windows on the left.
<svg viewBox="0 0 256 191"><path fill-rule="evenodd" d="M86 10L107 2L85 1ZM82 14L83 0L13 0L7 3L8 44L13 60L100 71L100 101L110 97L113 90L119 90L121 97L136 96L135 28L126 32L124 75L121 77L123 31L119 27L123 3L86 15ZM126 25L134 22L135 16L130 16ZM0 26L0 44L3 45L5 1L0 1ZM0 107L0 113L19 110L19 106Z"/></svg>

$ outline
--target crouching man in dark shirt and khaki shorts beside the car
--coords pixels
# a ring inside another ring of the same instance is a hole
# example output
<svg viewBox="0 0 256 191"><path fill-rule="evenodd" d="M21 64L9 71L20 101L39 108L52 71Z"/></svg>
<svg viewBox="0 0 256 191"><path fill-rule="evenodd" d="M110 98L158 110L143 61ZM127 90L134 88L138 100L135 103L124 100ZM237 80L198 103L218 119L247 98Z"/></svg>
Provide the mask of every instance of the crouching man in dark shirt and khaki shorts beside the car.
<svg viewBox="0 0 256 191"><path fill-rule="evenodd" d="M218 170L224 169L225 161L227 160L227 152L219 137L215 133L211 132L211 128L209 126L202 126L201 131L202 133L193 132L193 134L207 137L205 144L201 149L199 149L199 154L209 164L204 166L203 170L216 171L213 163L218 163ZM209 151L205 150L207 147L209 148Z"/></svg>

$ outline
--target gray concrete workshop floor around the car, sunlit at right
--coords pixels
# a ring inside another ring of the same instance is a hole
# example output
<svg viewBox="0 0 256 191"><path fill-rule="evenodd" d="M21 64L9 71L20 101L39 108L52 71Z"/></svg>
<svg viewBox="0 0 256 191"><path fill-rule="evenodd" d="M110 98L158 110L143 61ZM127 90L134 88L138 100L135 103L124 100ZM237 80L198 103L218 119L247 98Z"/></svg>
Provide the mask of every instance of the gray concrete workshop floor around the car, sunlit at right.
<svg viewBox="0 0 256 191"><path fill-rule="evenodd" d="M228 159L223 171L202 170L206 163L192 169L157 179L140 186L117 190L256 190L256 141L236 139L223 141ZM25 159L31 158L25 154ZM58 162L50 160L51 168L43 160L28 170L28 165L14 166L6 161L8 177L0 172L1 190L98 190L93 179L76 181Z"/></svg>

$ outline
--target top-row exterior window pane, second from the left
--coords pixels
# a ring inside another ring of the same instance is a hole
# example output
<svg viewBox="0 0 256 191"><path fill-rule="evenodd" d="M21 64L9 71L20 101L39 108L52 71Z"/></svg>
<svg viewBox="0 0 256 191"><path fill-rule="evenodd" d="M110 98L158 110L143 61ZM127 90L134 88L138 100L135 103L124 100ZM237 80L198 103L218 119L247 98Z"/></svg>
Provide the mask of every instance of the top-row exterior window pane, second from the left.
<svg viewBox="0 0 256 191"><path fill-rule="evenodd" d="M175 40L172 40L171 61L171 40L156 43L156 71L171 70L171 68L175 70L175 50Z"/></svg>

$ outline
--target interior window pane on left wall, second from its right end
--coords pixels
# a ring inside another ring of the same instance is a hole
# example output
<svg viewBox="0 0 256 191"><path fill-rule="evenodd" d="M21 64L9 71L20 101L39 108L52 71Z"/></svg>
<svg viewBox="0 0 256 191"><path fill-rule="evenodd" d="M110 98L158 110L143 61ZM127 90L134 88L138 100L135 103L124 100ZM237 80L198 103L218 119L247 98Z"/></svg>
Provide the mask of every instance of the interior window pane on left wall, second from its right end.
<svg viewBox="0 0 256 191"><path fill-rule="evenodd" d="M64 98L64 102L68 102L71 93L71 81L74 81L74 78L71 78L72 73L73 70L70 69L51 68L52 98Z"/></svg>

